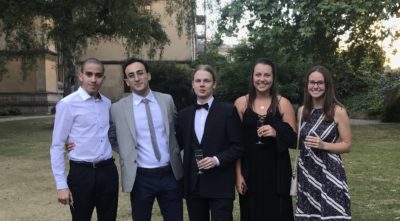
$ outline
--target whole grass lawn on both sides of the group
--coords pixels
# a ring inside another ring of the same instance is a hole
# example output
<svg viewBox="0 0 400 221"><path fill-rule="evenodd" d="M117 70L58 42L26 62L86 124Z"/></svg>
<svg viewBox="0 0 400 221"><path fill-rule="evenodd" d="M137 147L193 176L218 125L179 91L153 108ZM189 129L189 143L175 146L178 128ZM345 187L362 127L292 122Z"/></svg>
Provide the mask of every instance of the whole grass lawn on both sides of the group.
<svg viewBox="0 0 400 221"><path fill-rule="evenodd" d="M0 217L2 220L70 220L56 202L49 163L52 118L0 122ZM353 220L400 220L400 124L353 126L344 154ZM162 220L157 208L155 218ZM235 220L239 220L235 202ZM118 220L130 220L120 193Z"/></svg>

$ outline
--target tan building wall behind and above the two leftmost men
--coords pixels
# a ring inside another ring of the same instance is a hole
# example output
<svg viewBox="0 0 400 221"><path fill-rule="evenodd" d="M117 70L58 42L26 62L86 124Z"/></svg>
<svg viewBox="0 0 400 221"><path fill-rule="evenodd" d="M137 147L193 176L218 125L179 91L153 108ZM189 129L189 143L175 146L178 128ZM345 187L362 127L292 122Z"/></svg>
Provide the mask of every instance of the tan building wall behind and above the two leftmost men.
<svg viewBox="0 0 400 221"><path fill-rule="evenodd" d="M166 61L190 61L193 59L193 44L191 38L187 37L186 31L181 36L176 29L176 20L174 16L168 16L165 12L166 1L153 1L150 7L152 13L161 16L161 23L170 39L170 44L166 45L159 59L158 54L153 60ZM141 52L133 55L137 58L149 60L147 56L148 47L143 47ZM97 45L91 45L81 57L81 61L89 57L95 57L105 62L106 81L100 90L112 101L116 101L124 96L124 81L121 64L127 58L125 48L119 41L100 41Z"/></svg>

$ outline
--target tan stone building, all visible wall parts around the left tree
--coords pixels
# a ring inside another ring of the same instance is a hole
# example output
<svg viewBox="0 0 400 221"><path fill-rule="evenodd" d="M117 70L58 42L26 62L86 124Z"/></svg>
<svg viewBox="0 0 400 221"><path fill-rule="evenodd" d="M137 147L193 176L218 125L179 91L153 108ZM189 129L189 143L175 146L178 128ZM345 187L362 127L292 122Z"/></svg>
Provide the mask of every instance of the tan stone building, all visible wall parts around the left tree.
<svg viewBox="0 0 400 221"><path fill-rule="evenodd" d="M161 22L170 39L165 46L161 60L190 61L193 45L186 33L178 36L176 21L166 16L166 0L153 1L150 10L162 17ZM46 21L39 21L38 24ZM0 37L0 50L4 49L4 36ZM62 82L58 79L57 54L54 44L49 44L48 53L37 59L37 69L29 73L25 79L19 60L10 61L6 68L9 74L0 81L0 111L9 107L18 107L23 113L49 113L56 102L62 98ZM135 57L148 60L147 48L144 47ZM123 45L114 41L101 41L91 45L79 60L95 57L105 63L106 80L101 92L116 101L124 95L124 81L121 70L122 62L127 58ZM156 55L155 59L159 59Z"/></svg>

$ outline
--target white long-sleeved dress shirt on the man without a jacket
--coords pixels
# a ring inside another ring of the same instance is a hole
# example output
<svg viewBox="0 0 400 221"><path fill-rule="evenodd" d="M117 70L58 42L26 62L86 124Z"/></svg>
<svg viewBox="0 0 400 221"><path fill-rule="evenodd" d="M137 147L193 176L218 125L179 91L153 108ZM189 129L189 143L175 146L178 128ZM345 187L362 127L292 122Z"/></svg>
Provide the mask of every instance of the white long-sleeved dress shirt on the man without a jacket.
<svg viewBox="0 0 400 221"><path fill-rule="evenodd" d="M65 142L75 144L68 152L74 161L96 163L112 157L108 140L111 101L94 99L81 87L57 103L50 158L57 189L68 188L65 174Z"/></svg>

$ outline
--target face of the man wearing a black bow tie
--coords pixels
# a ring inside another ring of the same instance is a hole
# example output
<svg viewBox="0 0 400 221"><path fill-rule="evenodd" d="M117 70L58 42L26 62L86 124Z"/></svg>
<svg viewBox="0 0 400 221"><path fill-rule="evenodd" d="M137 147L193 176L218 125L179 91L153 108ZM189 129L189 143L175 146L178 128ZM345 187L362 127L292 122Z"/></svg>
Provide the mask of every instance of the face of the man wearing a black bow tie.
<svg viewBox="0 0 400 221"><path fill-rule="evenodd" d="M210 72L200 69L194 73L192 87L200 102L206 102L214 93L216 82Z"/></svg>

